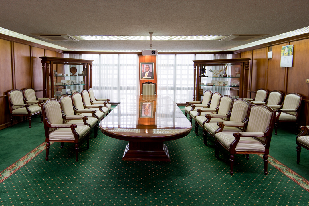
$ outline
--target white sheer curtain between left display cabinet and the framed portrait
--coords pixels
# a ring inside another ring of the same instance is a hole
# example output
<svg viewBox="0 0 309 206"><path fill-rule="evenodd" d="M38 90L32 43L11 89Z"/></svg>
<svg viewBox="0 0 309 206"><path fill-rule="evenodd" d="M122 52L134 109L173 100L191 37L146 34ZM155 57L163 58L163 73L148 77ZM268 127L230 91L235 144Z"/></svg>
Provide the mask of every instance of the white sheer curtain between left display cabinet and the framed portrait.
<svg viewBox="0 0 309 206"><path fill-rule="evenodd" d="M92 63L92 89L96 98L121 102L130 95L139 94L138 55L83 54Z"/></svg>

